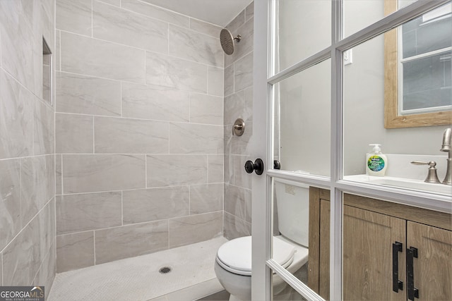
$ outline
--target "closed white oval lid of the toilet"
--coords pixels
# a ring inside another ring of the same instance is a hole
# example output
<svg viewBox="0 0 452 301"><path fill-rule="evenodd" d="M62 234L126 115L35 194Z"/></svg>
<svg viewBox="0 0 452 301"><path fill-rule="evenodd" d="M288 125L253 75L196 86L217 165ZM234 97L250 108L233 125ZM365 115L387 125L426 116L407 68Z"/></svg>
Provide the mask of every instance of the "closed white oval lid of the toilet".
<svg viewBox="0 0 452 301"><path fill-rule="evenodd" d="M273 260L284 268L292 263L295 247L278 238L273 239ZM251 236L225 242L217 252L217 262L234 274L251 276Z"/></svg>

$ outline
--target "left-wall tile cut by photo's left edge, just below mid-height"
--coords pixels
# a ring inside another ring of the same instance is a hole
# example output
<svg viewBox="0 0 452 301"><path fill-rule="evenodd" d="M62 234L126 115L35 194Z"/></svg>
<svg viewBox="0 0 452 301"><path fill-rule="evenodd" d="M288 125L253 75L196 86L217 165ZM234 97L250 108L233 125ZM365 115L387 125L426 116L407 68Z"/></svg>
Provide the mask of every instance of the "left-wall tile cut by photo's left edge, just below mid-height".
<svg viewBox="0 0 452 301"><path fill-rule="evenodd" d="M20 161L0 160L0 250L20 231Z"/></svg>

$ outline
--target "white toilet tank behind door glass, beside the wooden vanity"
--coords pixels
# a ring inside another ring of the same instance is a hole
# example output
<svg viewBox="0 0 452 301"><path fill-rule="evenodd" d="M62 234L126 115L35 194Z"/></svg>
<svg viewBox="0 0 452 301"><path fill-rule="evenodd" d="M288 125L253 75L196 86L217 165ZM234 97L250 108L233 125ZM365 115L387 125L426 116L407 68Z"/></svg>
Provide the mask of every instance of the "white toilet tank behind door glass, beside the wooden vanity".
<svg viewBox="0 0 452 301"><path fill-rule="evenodd" d="M278 228L280 233L309 245L309 186L291 180L274 178Z"/></svg>

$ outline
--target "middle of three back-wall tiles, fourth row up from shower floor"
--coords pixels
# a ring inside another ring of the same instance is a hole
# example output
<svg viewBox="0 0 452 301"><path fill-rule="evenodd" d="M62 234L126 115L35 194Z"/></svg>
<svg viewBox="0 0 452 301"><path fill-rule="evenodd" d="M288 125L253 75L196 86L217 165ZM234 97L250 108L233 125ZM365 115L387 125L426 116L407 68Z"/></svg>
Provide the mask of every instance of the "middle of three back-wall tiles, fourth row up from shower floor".
<svg viewBox="0 0 452 301"><path fill-rule="evenodd" d="M96 154L165 154L168 123L126 118L95 117Z"/></svg>

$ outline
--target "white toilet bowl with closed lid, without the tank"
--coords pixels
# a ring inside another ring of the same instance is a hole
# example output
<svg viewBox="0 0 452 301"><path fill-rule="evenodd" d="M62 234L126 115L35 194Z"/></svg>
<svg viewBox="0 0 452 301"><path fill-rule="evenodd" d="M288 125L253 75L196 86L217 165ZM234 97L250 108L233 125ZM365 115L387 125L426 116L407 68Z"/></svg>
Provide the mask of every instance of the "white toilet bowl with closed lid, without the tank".
<svg viewBox="0 0 452 301"><path fill-rule="evenodd" d="M308 249L284 238L273 237L273 260L294 274L308 261ZM215 274L232 300L251 300L251 236L225 242L215 258ZM273 294L278 295L287 283L273 273Z"/></svg>

